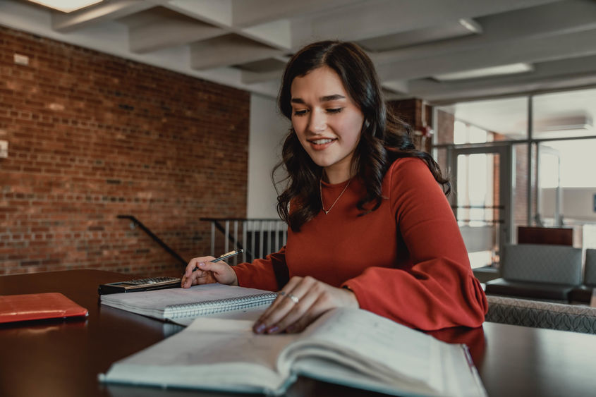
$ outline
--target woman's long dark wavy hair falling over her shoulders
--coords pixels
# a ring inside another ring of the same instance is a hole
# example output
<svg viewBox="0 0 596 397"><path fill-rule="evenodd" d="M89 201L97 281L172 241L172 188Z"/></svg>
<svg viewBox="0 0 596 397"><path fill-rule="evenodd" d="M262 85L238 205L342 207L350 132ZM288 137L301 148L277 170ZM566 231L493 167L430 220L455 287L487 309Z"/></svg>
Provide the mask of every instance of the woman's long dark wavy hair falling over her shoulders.
<svg viewBox="0 0 596 397"><path fill-rule="evenodd" d="M442 176L439 165L430 154L415 149L410 139L410 126L387 109L375 66L357 44L334 40L315 42L292 56L279 91L281 113L291 121L291 85L294 78L322 66L339 75L343 87L364 114L360 141L352 159L353 173L363 181L366 190L356 204L361 211L360 216L379 208L385 173L401 157L418 157L425 161L434 179L443 185L448 195L451 191L449 180ZM287 175L281 181L275 181L276 171L282 166ZM322 167L310 159L291 128L284 141L281 161L273 169L272 179L276 189L279 183L286 182L284 190L277 196L277 212L293 231L300 231L300 227L322 209L322 171Z"/></svg>

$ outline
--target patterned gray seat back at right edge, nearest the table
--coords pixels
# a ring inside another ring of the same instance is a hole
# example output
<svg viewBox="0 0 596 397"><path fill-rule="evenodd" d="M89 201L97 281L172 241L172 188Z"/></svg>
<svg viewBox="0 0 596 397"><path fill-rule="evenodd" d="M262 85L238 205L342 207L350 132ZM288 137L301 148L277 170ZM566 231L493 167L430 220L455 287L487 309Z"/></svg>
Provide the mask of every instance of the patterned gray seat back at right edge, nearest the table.
<svg viewBox="0 0 596 397"><path fill-rule="evenodd" d="M487 295L487 322L596 334L596 307Z"/></svg>

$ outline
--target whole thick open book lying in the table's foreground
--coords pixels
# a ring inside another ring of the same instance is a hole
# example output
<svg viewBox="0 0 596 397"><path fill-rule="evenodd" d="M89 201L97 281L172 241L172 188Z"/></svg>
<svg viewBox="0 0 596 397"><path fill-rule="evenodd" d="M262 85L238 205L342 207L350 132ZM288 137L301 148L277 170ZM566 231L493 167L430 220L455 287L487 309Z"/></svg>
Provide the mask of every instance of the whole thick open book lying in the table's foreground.
<svg viewBox="0 0 596 397"><path fill-rule="evenodd" d="M304 376L400 396L486 396L466 346L377 314L335 309L301 334L257 335L246 320L198 319L114 363L108 383L281 394Z"/></svg>

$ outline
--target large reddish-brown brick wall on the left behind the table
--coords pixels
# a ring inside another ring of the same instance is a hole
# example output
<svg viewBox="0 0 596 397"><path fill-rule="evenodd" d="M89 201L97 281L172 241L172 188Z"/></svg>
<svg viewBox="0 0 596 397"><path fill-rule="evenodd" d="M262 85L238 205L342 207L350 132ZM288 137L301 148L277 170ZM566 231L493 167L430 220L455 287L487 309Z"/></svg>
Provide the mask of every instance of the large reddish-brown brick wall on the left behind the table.
<svg viewBox="0 0 596 397"><path fill-rule="evenodd" d="M14 54L29 57L19 66ZM245 216L250 95L0 28L0 274L178 274Z"/></svg>

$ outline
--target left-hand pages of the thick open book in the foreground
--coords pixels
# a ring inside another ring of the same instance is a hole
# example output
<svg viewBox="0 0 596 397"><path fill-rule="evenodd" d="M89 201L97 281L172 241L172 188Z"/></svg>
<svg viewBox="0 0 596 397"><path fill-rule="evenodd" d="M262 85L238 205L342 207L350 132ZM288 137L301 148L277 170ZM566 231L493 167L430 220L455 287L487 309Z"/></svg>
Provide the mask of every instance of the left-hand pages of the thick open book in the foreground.
<svg viewBox="0 0 596 397"><path fill-rule="evenodd" d="M201 317L178 334L116 362L102 380L195 389L278 390L281 350L296 335L255 335L252 320Z"/></svg>

